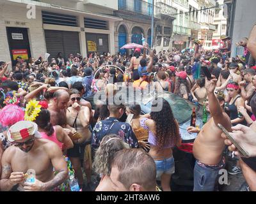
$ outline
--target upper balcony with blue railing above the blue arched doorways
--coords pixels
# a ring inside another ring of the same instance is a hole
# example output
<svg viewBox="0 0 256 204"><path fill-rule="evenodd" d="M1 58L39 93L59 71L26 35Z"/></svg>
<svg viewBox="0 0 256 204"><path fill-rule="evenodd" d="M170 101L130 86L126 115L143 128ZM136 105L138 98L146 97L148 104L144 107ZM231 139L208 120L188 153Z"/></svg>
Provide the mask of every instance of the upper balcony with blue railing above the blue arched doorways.
<svg viewBox="0 0 256 204"><path fill-rule="evenodd" d="M134 13L134 15L152 16L152 4L142 0L118 0L118 10L129 11L129 13ZM159 11L159 6L154 6L154 13L159 13Z"/></svg>

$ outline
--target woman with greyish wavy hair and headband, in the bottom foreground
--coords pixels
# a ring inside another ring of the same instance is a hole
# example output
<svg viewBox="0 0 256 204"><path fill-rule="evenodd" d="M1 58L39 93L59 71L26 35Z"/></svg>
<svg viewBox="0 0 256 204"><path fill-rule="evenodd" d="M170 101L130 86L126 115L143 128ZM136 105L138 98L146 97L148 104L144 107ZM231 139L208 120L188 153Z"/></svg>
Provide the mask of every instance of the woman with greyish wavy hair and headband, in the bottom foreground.
<svg viewBox="0 0 256 204"><path fill-rule="evenodd" d="M111 172L111 161L116 152L128 148L129 145L120 139L118 135L113 134L104 136L100 142L99 149L97 149L93 163L95 172L102 175L99 186L95 191L115 191L109 177Z"/></svg>

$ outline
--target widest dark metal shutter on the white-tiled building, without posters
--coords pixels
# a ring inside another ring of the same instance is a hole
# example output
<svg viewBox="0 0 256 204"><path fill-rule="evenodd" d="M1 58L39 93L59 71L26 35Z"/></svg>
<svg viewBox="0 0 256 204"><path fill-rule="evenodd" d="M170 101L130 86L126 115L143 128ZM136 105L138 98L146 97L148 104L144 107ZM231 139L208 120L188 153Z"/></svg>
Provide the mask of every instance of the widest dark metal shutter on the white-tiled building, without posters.
<svg viewBox="0 0 256 204"><path fill-rule="evenodd" d="M49 59L56 57L58 52L61 52L65 59L68 59L70 53L80 53L79 34L77 32L44 30L44 33L47 52L51 54Z"/></svg>

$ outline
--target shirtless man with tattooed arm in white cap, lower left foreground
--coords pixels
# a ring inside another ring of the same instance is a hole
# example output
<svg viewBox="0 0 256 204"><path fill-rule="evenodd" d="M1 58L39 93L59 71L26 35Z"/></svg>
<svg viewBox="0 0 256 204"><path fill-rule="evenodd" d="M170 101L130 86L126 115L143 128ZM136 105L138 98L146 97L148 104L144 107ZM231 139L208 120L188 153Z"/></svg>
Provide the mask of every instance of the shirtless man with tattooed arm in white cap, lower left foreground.
<svg viewBox="0 0 256 204"><path fill-rule="evenodd" d="M1 191L11 191L17 185L19 191L52 191L65 182L68 170L60 147L39 138L35 122L17 122L7 135L13 145L4 151L2 157ZM55 176L53 168L58 171ZM26 180L28 170L35 172L35 182Z"/></svg>

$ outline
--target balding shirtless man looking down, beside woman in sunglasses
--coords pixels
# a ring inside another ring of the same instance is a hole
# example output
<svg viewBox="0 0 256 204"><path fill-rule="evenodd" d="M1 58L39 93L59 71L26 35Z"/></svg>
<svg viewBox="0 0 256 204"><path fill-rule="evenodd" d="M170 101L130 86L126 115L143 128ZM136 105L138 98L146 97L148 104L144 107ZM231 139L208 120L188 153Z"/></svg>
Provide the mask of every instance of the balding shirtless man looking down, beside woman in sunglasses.
<svg viewBox="0 0 256 204"><path fill-rule="evenodd" d="M49 103L49 112L51 113L51 124L52 126L61 126L66 128L66 111L67 103L69 101L69 94L65 90L58 90L54 92L53 99Z"/></svg>

